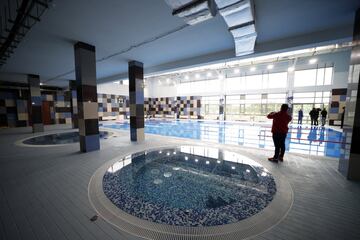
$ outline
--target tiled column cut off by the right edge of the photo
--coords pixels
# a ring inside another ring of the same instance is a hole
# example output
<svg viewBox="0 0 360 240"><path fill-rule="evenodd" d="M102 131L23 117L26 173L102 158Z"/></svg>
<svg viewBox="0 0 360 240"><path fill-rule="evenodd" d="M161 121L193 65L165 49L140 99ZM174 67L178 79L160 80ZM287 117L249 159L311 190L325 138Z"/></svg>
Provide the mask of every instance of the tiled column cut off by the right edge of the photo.
<svg viewBox="0 0 360 240"><path fill-rule="evenodd" d="M356 12L353 41L360 41L360 9ZM339 171L349 180L360 180L360 45L351 51L343 143Z"/></svg>

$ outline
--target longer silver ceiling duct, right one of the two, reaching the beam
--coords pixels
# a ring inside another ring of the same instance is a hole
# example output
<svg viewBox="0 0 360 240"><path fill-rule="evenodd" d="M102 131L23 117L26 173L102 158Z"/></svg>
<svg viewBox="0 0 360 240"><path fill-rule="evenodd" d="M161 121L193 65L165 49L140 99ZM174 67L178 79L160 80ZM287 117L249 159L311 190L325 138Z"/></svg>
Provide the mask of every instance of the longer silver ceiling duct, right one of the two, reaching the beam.
<svg viewBox="0 0 360 240"><path fill-rule="evenodd" d="M236 56L253 53L257 34L252 1L215 0L215 2L234 37Z"/></svg>

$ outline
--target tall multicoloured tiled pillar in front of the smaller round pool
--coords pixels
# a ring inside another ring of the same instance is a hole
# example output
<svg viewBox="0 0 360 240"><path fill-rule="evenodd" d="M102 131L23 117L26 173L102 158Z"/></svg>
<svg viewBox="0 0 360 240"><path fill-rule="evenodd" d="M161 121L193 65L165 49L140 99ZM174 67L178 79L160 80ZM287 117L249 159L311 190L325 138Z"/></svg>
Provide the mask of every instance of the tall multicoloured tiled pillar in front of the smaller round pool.
<svg viewBox="0 0 360 240"><path fill-rule="evenodd" d="M90 152L100 149L95 47L77 42L74 51L80 151Z"/></svg>

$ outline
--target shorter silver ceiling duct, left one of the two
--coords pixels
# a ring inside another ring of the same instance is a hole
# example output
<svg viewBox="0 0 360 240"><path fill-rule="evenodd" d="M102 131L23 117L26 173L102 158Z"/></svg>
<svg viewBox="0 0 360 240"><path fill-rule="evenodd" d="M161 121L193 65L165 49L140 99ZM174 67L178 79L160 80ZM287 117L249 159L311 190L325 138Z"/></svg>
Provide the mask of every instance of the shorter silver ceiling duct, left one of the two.
<svg viewBox="0 0 360 240"><path fill-rule="evenodd" d="M216 15L213 0L165 0L173 9L172 14L182 18L187 24L195 25Z"/></svg>

